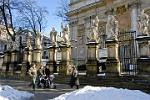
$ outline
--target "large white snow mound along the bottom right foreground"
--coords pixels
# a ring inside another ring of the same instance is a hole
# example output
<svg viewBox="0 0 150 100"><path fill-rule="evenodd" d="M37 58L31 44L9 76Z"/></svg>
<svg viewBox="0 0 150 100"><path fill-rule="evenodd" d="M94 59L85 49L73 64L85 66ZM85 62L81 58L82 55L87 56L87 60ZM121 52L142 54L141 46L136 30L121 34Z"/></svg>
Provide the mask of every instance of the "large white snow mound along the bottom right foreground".
<svg viewBox="0 0 150 100"><path fill-rule="evenodd" d="M139 90L85 86L52 100L150 100L150 95Z"/></svg>

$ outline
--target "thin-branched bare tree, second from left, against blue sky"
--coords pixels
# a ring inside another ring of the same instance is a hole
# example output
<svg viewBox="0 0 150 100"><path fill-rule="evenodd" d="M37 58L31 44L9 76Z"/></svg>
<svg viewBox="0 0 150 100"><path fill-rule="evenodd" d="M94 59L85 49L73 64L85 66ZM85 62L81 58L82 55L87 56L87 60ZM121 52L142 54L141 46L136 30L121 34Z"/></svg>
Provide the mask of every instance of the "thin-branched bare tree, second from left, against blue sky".
<svg viewBox="0 0 150 100"><path fill-rule="evenodd" d="M46 26L48 11L33 0L24 0L20 6L18 9L20 26L33 31L35 35L42 32Z"/></svg>

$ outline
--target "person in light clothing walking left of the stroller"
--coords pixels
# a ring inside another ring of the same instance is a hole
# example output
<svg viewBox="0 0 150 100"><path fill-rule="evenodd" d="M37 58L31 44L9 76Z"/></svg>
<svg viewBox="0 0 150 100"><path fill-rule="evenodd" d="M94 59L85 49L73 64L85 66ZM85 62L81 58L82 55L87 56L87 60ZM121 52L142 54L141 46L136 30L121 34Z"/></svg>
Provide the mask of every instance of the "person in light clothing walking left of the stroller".
<svg viewBox="0 0 150 100"><path fill-rule="evenodd" d="M36 78L37 78L37 68L35 63L31 65L31 68L29 69L28 73L32 77L32 88L35 90Z"/></svg>

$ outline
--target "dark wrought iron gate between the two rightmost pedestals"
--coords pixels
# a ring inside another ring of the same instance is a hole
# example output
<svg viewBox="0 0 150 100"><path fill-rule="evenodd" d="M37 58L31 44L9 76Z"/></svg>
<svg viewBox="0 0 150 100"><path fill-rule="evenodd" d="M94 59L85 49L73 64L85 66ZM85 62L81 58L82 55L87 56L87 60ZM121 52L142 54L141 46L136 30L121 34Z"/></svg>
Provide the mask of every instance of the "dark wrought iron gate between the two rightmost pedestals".
<svg viewBox="0 0 150 100"><path fill-rule="evenodd" d="M135 38L135 31L118 34L121 74L136 75L137 73L137 42Z"/></svg>

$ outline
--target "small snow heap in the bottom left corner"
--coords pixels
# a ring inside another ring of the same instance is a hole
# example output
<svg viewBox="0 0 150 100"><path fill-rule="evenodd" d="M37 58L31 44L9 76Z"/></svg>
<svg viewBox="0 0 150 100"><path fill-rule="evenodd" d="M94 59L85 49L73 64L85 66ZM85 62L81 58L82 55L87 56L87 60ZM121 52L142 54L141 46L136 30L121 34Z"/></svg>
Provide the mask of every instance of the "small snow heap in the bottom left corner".
<svg viewBox="0 0 150 100"><path fill-rule="evenodd" d="M15 90L8 85L0 85L0 100L28 100L33 96L34 94Z"/></svg>

